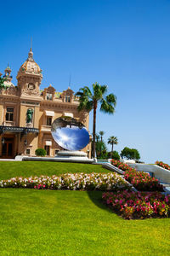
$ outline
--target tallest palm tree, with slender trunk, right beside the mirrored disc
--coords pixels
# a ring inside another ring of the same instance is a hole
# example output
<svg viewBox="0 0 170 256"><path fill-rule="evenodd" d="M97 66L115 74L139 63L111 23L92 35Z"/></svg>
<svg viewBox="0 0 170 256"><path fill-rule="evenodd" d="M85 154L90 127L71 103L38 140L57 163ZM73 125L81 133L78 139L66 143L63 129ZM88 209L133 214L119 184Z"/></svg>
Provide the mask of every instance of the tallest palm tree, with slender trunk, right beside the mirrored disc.
<svg viewBox="0 0 170 256"><path fill-rule="evenodd" d="M105 96L107 92L107 85L100 85L98 83L92 84L93 92L84 86L76 93L79 96L78 110L91 111L94 110L94 124L93 124L93 149L92 156L95 157L95 133L96 133L96 111L100 104L100 111L104 113L114 113L116 107L116 96L109 94Z"/></svg>

